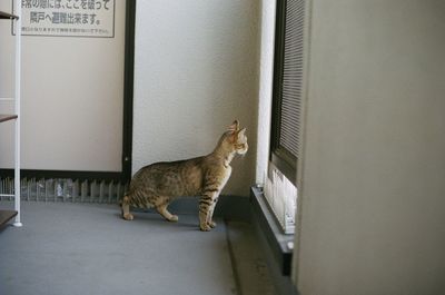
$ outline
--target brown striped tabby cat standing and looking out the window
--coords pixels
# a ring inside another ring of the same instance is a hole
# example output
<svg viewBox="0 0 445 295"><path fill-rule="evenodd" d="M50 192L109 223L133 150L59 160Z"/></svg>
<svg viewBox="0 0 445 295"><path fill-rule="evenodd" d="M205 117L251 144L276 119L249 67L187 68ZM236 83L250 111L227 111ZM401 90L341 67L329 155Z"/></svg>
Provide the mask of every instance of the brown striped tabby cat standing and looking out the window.
<svg viewBox="0 0 445 295"><path fill-rule="evenodd" d="M216 226L212 220L218 196L231 174L230 161L236 154L247 153L246 128L239 129L235 120L220 137L215 150L202 157L155 163L136 173L129 191L122 199L122 217L132 220L130 207L150 208L169 222L178 216L167 210L177 197L199 196L199 228L204 232Z"/></svg>

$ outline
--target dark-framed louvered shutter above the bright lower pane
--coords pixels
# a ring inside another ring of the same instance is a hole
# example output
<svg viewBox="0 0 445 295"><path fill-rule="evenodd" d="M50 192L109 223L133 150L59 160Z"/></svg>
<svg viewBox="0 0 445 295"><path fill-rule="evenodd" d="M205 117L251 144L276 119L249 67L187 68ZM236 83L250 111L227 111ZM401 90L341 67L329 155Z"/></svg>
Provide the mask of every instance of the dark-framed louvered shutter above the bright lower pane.
<svg viewBox="0 0 445 295"><path fill-rule="evenodd" d="M277 2L271 161L295 184L300 153L304 0Z"/></svg>

